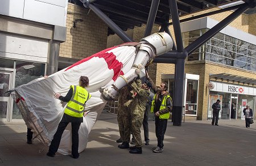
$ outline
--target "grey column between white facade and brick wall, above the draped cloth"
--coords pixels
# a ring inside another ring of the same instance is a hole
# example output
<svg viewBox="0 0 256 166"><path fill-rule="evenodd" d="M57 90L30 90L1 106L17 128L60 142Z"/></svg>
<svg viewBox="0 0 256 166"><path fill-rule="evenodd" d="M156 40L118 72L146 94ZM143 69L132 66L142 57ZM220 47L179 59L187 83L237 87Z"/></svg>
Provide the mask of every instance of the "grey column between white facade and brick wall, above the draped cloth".
<svg viewBox="0 0 256 166"><path fill-rule="evenodd" d="M46 75L49 76L58 71L60 54L60 42L56 40L49 41L49 52L47 58Z"/></svg>

